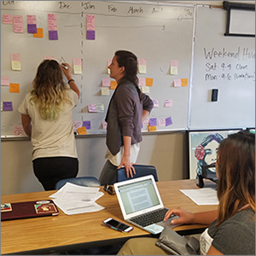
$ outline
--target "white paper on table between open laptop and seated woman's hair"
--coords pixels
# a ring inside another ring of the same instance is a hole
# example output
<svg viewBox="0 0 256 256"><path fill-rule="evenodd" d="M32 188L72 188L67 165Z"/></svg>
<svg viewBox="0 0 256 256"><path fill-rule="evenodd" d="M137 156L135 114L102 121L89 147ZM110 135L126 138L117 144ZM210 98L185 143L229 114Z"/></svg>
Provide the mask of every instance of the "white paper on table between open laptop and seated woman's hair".
<svg viewBox="0 0 256 256"><path fill-rule="evenodd" d="M218 205L217 191L215 189L180 189L180 191L198 206Z"/></svg>

